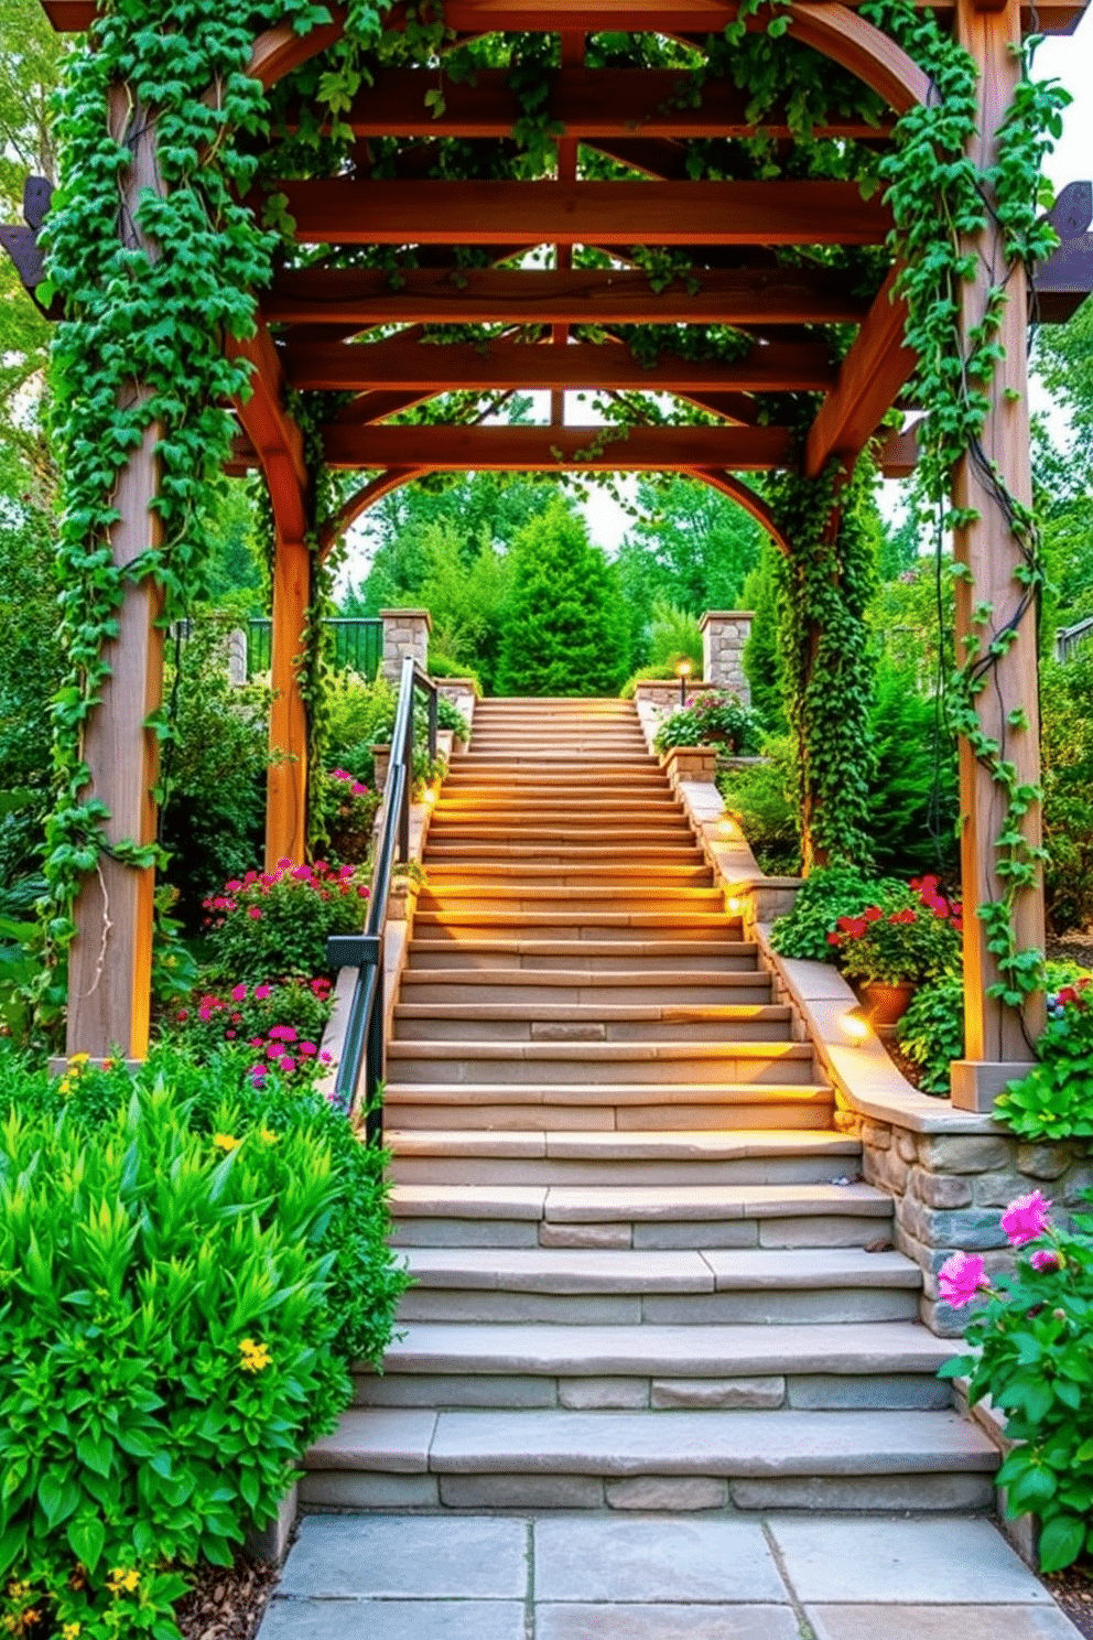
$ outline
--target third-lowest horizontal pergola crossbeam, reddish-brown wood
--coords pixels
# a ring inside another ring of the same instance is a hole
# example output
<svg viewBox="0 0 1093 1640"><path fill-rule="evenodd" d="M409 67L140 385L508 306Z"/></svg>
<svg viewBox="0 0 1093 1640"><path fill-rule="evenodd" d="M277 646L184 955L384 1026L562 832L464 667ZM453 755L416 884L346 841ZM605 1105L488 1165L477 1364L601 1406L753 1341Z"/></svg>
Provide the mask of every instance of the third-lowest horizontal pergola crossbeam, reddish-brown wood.
<svg viewBox="0 0 1093 1640"><path fill-rule="evenodd" d="M692 289L693 287L693 289ZM847 325L869 303L814 267L695 269L654 290L631 269L283 269L262 297L275 325Z"/></svg>

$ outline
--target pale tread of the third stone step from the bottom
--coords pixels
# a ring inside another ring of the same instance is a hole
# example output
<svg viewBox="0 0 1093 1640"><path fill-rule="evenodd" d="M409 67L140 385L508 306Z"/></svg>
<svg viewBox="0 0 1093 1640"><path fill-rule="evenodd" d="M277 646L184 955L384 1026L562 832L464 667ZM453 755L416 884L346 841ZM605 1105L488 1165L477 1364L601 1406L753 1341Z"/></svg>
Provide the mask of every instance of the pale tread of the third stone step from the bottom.
<svg viewBox="0 0 1093 1640"><path fill-rule="evenodd" d="M770 1292L921 1286L903 1253L862 1248L793 1251L587 1251L583 1248L406 1248L420 1287L477 1292Z"/></svg>

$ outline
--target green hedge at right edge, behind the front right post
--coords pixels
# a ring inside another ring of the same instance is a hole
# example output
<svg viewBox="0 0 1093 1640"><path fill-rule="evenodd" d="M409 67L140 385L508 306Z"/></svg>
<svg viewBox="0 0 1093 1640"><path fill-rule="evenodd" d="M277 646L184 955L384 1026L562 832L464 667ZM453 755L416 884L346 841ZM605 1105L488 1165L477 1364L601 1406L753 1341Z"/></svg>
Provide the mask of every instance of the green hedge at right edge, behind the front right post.
<svg viewBox="0 0 1093 1640"><path fill-rule="evenodd" d="M1044 889L1055 933L1093 922L1093 646L1041 667Z"/></svg>

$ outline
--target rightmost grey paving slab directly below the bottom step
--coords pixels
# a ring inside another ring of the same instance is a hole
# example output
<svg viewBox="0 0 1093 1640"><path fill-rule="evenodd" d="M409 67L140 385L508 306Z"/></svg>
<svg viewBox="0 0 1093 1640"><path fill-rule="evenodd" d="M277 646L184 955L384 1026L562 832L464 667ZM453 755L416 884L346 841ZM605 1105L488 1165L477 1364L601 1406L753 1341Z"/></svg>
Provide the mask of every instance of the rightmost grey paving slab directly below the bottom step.
<svg viewBox="0 0 1093 1640"><path fill-rule="evenodd" d="M775 1520L805 1604L1052 1606L990 1520Z"/></svg>

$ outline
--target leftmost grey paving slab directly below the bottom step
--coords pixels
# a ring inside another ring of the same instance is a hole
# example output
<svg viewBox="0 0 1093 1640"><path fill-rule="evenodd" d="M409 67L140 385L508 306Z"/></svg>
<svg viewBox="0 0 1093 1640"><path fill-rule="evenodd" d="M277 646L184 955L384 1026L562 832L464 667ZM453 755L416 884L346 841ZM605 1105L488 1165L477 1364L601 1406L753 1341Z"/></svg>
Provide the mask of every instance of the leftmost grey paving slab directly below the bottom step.
<svg viewBox="0 0 1093 1640"><path fill-rule="evenodd" d="M521 1520L305 1515L280 1592L308 1599L521 1599Z"/></svg>

